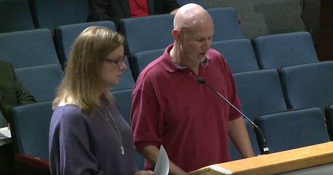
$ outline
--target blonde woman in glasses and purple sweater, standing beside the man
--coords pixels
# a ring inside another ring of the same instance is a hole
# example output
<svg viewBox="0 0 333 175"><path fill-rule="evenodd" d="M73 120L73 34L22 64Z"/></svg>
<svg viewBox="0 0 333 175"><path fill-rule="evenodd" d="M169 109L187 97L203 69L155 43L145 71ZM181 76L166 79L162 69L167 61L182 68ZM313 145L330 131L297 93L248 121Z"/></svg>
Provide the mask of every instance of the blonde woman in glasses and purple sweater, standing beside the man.
<svg viewBox="0 0 333 175"><path fill-rule="evenodd" d="M50 124L52 175L151 175L134 166L133 133L110 95L124 64L124 37L100 26L75 41Z"/></svg>

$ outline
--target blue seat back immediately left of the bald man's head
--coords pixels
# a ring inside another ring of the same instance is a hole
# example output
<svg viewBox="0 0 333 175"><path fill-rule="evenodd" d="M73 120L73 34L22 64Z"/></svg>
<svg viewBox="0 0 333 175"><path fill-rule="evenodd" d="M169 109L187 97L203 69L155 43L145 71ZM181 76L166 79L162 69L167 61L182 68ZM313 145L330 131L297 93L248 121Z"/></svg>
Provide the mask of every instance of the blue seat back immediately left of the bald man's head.
<svg viewBox="0 0 333 175"><path fill-rule="evenodd" d="M121 30L126 37L126 55L162 49L173 42L173 15L159 14L121 19Z"/></svg>

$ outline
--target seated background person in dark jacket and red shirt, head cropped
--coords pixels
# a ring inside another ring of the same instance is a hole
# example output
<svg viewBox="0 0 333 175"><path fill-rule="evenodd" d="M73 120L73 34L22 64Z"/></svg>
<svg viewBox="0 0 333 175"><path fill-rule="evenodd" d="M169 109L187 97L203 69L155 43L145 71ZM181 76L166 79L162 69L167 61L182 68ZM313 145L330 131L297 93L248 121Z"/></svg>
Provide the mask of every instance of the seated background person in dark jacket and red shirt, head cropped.
<svg viewBox="0 0 333 175"><path fill-rule="evenodd" d="M121 18L174 14L179 4L176 0L89 0L87 22L111 20L120 31Z"/></svg>

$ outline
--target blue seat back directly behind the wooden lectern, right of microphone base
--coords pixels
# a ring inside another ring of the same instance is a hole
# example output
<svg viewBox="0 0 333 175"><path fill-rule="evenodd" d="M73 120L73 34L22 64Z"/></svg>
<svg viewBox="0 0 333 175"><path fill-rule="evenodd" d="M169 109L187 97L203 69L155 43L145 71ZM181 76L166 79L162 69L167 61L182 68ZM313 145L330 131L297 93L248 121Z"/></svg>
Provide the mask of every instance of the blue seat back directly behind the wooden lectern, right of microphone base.
<svg viewBox="0 0 333 175"><path fill-rule="evenodd" d="M263 132L270 153L330 141L320 108L260 115L256 123Z"/></svg>

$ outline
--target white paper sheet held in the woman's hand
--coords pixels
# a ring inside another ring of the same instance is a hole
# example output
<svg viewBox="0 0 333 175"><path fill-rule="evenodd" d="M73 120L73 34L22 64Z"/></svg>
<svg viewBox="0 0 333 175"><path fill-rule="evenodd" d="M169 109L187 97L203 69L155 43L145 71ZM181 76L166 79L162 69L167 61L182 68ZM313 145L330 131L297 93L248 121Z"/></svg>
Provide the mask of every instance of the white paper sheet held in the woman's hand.
<svg viewBox="0 0 333 175"><path fill-rule="evenodd" d="M169 174L169 158L167 157L167 152L161 145L159 157L154 169L154 175L167 175Z"/></svg>

